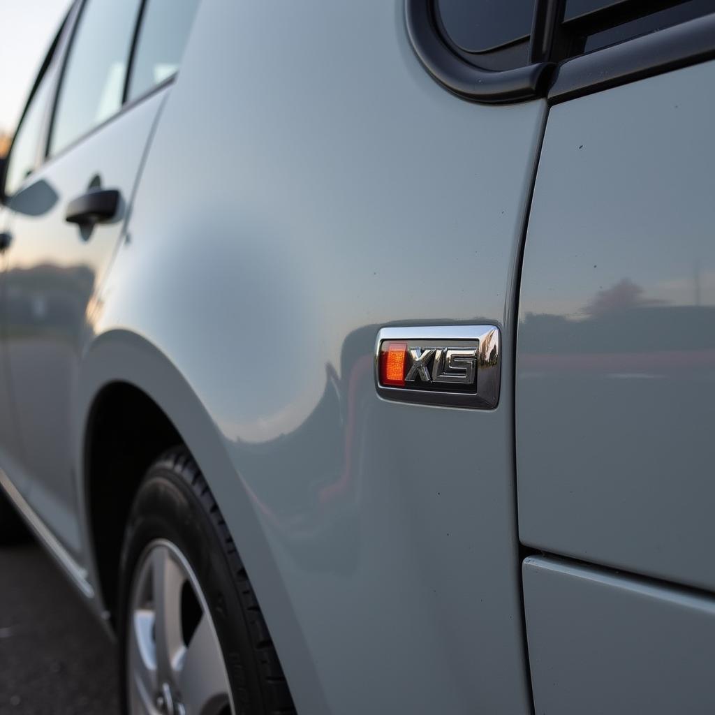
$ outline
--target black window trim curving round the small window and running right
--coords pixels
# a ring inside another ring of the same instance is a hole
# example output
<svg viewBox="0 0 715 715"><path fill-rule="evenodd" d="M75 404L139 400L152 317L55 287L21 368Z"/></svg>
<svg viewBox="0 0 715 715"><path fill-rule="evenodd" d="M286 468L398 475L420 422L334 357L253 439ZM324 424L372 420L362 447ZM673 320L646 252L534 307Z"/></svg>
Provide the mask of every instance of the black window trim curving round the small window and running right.
<svg viewBox="0 0 715 715"><path fill-rule="evenodd" d="M557 104L715 59L712 13L555 64L549 58L565 5L565 0L536 0L531 64L503 71L468 64L445 44L435 21L435 0L405 0L405 20L415 54L433 79L458 97L484 104L536 98Z"/></svg>

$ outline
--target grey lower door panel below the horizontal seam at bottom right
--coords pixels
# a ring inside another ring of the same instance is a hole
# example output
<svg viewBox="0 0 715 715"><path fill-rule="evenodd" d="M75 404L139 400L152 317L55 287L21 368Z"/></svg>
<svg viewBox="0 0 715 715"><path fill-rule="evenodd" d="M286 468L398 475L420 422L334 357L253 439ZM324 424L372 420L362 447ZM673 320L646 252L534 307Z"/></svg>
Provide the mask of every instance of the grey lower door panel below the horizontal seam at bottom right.
<svg viewBox="0 0 715 715"><path fill-rule="evenodd" d="M536 713L715 711L715 598L547 558L523 579Z"/></svg>

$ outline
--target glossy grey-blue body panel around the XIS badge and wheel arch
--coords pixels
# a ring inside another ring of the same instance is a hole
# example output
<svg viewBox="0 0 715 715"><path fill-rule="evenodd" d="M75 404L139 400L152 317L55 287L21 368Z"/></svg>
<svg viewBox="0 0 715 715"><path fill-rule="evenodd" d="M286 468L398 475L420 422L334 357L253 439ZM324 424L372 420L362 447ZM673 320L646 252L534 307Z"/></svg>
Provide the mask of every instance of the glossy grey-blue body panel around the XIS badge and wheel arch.
<svg viewBox="0 0 715 715"><path fill-rule="evenodd" d="M390 403L373 349L385 325L491 324L511 374L545 117L542 102L483 107L438 87L400 0L199 10L68 353L66 469L87 535L94 400L124 380L161 406L302 713L530 711L511 380L495 410ZM81 265L82 244L70 255Z"/></svg>

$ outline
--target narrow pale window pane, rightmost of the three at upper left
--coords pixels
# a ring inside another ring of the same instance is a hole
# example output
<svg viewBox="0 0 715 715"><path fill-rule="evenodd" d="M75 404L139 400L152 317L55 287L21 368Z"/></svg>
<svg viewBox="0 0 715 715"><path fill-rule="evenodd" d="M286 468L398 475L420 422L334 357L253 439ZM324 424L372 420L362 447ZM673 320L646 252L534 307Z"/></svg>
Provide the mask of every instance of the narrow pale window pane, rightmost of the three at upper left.
<svg viewBox="0 0 715 715"><path fill-rule="evenodd" d="M129 78L129 99L179 69L198 0L147 0Z"/></svg>

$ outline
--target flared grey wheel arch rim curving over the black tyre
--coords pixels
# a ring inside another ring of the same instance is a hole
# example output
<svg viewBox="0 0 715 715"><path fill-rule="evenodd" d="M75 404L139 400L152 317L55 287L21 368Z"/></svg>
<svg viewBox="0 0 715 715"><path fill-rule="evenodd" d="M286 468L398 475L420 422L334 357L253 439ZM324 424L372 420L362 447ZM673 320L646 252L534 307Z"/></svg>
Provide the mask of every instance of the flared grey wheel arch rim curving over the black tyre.
<svg viewBox="0 0 715 715"><path fill-rule="evenodd" d="M77 391L75 424L82 425L75 448L79 465L77 493L89 552L87 568L99 609L107 611L112 599L105 593L107 585L111 585L106 573L102 583L102 548L99 545L98 550L92 523L93 495L96 498L103 479L97 471L93 445L96 450L102 415L107 415L119 393L124 393L124 397L134 395L137 404L154 406L166 430L159 442L178 438L200 465L217 503L230 505L222 511L257 593L291 689L295 690L292 684L298 679L297 689L307 687L314 689L314 694L322 692L290 596L255 513L250 490L245 488L232 463L220 429L167 356L147 338L125 329L103 333L89 345L82 360ZM138 478L134 475L136 485L142 476L143 473ZM107 568L111 565L105 564L104 571Z"/></svg>

